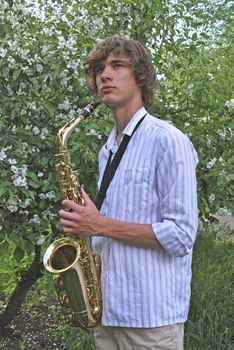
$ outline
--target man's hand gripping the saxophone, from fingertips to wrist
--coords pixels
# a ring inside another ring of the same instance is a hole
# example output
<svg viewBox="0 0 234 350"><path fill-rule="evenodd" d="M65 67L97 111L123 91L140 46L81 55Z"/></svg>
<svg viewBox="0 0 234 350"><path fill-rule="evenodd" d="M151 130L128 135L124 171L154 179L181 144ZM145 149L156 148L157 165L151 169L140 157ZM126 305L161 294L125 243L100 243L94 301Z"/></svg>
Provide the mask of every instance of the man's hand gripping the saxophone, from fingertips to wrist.
<svg viewBox="0 0 234 350"><path fill-rule="evenodd" d="M62 202L62 205L70 211L63 209L59 211L60 223L66 233L89 237L100 232L103 216L83 189L82 197L85 205L76 204L69 199Z"/></svg>

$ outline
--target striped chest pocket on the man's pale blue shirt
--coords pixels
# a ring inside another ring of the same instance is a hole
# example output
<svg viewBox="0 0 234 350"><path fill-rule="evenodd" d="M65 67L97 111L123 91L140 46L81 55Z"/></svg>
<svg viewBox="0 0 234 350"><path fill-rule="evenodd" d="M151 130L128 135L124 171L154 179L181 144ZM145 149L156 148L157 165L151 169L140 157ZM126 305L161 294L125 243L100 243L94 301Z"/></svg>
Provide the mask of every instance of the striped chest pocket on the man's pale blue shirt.
<svg viewBox="0 0 234 350"><path fill-rule="evenodd" d="M150 172L147 167L125 171L121 209L130 214L147 206L149 178Z"/></svg>

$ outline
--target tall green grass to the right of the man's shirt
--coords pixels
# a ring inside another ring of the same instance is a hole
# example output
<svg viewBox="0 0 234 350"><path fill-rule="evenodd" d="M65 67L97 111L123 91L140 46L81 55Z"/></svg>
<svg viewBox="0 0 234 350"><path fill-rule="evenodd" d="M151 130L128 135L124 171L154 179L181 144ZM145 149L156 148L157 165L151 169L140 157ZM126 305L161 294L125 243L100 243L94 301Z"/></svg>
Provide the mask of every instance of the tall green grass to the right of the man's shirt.
<svg viewBox="0 0 234 350"><path fill-rule="evenodd" d="M185 350L234 348L233 236L225 226L221 234L214 228L200 230L194 249Z"/></svg>

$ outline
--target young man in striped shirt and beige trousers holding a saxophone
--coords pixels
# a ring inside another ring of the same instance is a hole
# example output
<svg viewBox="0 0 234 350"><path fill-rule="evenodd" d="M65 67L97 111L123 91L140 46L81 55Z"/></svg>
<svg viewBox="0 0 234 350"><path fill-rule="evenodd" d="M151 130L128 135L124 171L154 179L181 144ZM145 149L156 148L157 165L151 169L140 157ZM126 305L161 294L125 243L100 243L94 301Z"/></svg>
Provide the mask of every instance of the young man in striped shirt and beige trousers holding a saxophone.
<svg viewBox="0 0 234 350"><path fill-rule="evenodd" d="M101 211L83 191L85 206L64 200L72 212L59 212L64 232L91 236L102 259L97 349L181 350L197 231L196 152L182 132L147 113L155 73L139 42L109 37L85 69L115 120L99 155L99 185L110 151L113 159L132 135Z"/></svg>

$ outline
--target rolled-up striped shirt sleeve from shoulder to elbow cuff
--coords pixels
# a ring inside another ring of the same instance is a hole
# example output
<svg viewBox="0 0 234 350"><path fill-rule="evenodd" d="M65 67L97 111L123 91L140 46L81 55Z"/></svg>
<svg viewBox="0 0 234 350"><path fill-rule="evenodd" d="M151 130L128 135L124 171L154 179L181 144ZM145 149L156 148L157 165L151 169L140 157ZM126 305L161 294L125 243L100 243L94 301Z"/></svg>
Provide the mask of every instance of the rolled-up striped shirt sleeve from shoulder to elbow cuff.
<svg viewBox="0 0 234 350"><path fill-rule="evenodd" d="M197 153L181 132L165 133L159 151L156 178L161 221L152 228L169 254L184 256L193 247L198 225Z"/></svg>

